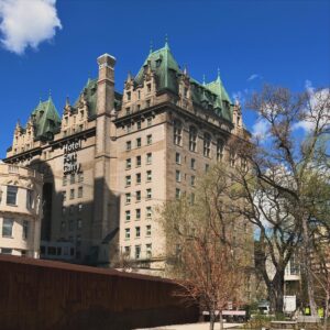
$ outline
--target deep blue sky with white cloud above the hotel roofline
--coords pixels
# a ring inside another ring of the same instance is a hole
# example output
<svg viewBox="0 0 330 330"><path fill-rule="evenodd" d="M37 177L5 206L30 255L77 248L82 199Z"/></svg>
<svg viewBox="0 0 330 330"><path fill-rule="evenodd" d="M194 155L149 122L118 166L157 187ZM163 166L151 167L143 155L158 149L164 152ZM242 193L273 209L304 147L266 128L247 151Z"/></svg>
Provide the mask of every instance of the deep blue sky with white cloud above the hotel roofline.
<svg viewBox="0 0 330 330"><path fill-rule="evenodd" d="M4 24L8 15L14 26ZM219 67L231 97L246 98L264 82L296 91L307 80L330 85L330 1L0 0L0 158L16 120L25 123L50 89L62 114L66 96L75 100L97 76L96 58L109 53L118 59L116 89L122 91L151 40L162 47L166 34L175 58L197 80L204 74L215 79ZM254 118L243 116L252 129Z"/></svg>

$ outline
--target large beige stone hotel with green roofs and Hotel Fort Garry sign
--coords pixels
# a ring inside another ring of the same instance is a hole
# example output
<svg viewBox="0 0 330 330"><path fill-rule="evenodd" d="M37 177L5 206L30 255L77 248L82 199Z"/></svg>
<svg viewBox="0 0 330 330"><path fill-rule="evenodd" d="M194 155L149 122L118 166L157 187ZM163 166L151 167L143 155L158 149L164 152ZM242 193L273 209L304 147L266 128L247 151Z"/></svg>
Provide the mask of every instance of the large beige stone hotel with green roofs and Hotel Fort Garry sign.
<svg viewBox="0 0 330 330"><path fill-rule="evenodd" d="M70 243L73 262L99 266L125 255L158 274L166 239L157 207L183 195L193 202L212 164L239 162L228 139L249 132L220 75L196 81L167 43L129 74L122 94L114 91L114 65L100 56L98 78L74 105L66 101L62 117L51 98L40 102L28 124L16 125L6 162L43 173L47 245Z"/></svg>

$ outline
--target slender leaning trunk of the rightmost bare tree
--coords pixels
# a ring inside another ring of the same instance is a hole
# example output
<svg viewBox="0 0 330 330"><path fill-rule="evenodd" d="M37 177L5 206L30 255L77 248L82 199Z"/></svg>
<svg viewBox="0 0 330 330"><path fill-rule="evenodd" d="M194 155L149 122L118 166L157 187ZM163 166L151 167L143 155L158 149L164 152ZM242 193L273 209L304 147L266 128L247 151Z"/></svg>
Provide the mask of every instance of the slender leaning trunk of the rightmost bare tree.
<svg viewBox="0 0 330 330"><path fill-rule="evenodd" d="M311 274L311 263L310 263L310 239L309 239L309 230L307 226L307 219L302 219L302 262L304 262L304 270L305 270L305 276L306 276L306 284L307 284L307 293L308 293L308 300L309 300L309 307L310 307L310 315L316 317L318 315L317 312L317 306L315 302L315 289L314 289L314 280L312 280L312 274Z"/></svg>

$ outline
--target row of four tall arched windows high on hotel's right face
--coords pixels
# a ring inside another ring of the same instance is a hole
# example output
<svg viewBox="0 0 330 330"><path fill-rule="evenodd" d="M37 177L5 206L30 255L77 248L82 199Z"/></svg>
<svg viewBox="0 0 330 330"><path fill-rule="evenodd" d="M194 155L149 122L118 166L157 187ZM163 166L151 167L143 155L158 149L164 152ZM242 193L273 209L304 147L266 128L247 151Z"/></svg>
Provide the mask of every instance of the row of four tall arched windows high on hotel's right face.
<svg viewBox="0 0 330 330"><path fill-rule="evenodd" d="M197 129L195 127L189 128L189 151L197 152ZM176 145L183 145L183 123L179 120L174 121L173 128L173 143ZM223 140L217 140L217 160L220 161L223 157L224 143ZM206 157L211 156L211 135L204 133L202 154Z"/></svg>

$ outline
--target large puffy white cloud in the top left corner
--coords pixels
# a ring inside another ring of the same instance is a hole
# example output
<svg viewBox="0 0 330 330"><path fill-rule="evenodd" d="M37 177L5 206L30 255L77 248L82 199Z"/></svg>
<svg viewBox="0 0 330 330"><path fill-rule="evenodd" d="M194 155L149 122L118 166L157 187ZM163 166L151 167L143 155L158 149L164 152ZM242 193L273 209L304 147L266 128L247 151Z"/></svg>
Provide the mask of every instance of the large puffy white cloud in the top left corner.
<svg viewBox="0 0 330 330"><path fill-rule="evenodd" d="M56 0L0 0L0 33L4 48L23 54L26 47L54 37L62 29Z"/></svg>

